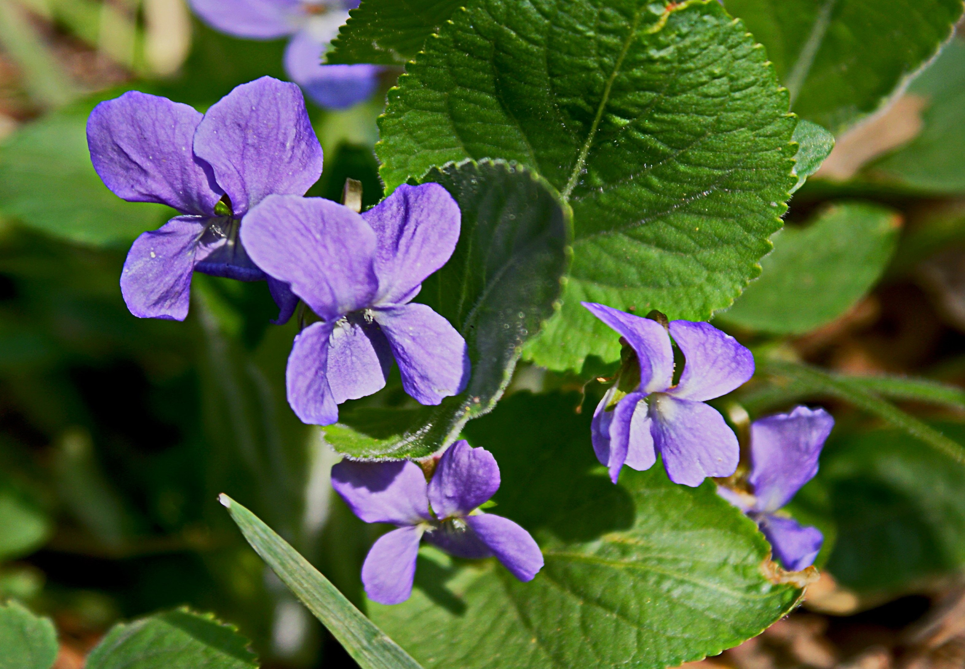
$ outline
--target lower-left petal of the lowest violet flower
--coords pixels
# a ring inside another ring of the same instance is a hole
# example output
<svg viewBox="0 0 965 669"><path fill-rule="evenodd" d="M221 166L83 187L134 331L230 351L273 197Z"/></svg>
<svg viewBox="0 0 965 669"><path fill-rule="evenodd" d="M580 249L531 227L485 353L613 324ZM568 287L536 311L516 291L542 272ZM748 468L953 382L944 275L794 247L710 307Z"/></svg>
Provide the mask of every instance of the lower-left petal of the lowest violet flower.
<svg viewBox="0 0 965 669"><path fill-rule="evenodd" d="M362 565L362 583L369 599L400 604L412 594L422 527L400 527L378 538Z"/></svg>

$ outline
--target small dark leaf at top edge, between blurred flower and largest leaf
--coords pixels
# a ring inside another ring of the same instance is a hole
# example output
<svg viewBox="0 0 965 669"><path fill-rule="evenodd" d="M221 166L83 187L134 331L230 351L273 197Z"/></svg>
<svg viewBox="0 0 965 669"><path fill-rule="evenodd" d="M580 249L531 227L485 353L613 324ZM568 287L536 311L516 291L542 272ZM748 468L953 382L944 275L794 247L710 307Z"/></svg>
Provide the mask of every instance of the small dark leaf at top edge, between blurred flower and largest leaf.
<svg viewBox="0 0 965 669"><path fill-rule="evenodd" d="M404 65L460 5L459 0L365 0L348 12L325 62Z"/></svg>

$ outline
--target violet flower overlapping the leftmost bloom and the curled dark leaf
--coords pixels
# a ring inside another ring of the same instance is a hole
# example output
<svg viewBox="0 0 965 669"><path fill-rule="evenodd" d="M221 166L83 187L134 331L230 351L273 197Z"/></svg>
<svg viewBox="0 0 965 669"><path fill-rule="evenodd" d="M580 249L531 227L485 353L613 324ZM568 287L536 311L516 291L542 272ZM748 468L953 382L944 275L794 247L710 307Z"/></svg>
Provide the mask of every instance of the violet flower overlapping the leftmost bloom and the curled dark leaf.
<svg viewBox="0 0 965 669"><path fill-rule="evenodd" d="M295 337L289 357L289 404L302 421L335 423L338 404L385 385L393 357L402 388L421 404L465 388L462 336L425 304L410 303L453 255L460 221L437 183L400 185L361 214L281 195L248 213L241 240L251 258L322 320Z"/></svg>

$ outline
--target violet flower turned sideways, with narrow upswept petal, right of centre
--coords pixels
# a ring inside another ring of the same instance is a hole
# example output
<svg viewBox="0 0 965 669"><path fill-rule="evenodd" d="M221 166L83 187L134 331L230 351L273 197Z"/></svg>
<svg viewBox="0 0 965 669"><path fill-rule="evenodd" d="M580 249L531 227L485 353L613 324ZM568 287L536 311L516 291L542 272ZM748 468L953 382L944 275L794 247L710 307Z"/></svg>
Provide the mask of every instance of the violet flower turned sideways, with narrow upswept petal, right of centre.
<svg viewBox="0 0 965 669"><path fill-rule="evenodd" d="M668 334L657 321L602 304L583 306L623 336L640 364L639 384L620 398L615 383L593 413L593 450L610 479L617 483L624 464L649 469L657 453L674 483L699 486L707 476L730 476L740 457L737 437L703 403L754 375L751 351L709 323L671 321ZM671 336L686 358L676 385Z"/></svg>

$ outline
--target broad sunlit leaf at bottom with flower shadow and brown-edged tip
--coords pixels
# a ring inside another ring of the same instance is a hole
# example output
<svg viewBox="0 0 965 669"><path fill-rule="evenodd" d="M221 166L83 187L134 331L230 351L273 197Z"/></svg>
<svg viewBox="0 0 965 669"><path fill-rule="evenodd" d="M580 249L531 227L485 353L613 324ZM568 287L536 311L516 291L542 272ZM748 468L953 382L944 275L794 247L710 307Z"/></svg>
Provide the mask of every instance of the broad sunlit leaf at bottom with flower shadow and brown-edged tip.
<svg viewBox="0 0 965 669"><path fill-rule="evenodd" d="M520 392L466 426L499 461L495 513L533 533L546 564L521 583L424 548L412 597L370 615L427 668L677 666L755 636L800 596L767 579L770 547L713 483L676 486L658 463L612 485L579 400Z"/></svg>

